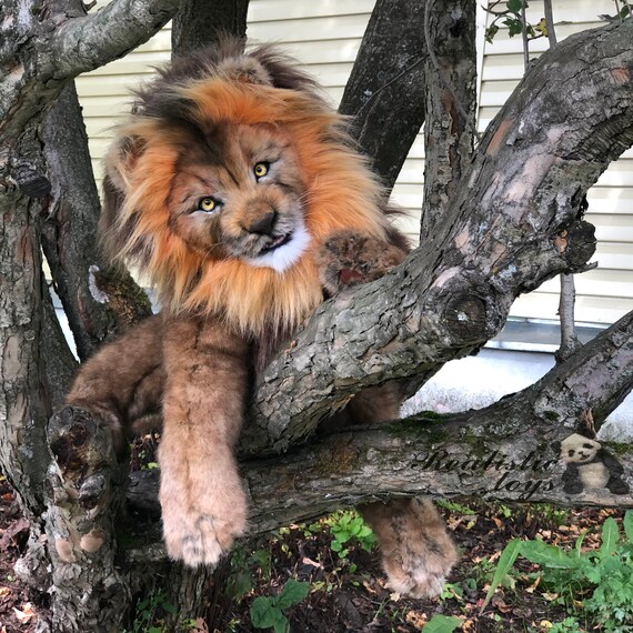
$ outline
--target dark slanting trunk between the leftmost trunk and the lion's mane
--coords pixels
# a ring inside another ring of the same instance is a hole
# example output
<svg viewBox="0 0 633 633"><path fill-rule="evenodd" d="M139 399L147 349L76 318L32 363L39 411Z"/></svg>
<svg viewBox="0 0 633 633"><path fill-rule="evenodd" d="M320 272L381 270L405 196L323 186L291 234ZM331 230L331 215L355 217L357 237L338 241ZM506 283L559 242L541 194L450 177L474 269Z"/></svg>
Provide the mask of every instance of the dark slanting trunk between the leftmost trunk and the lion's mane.
<svg viewBox="0 0 633 633"><path fill-rule="evenodd" d="M109 267L99 253L99 194L73 82L48 112L42 143L52 184L42 248L78 355L86 360L103 342L149 316L151 305L130 275Z"/></svg>

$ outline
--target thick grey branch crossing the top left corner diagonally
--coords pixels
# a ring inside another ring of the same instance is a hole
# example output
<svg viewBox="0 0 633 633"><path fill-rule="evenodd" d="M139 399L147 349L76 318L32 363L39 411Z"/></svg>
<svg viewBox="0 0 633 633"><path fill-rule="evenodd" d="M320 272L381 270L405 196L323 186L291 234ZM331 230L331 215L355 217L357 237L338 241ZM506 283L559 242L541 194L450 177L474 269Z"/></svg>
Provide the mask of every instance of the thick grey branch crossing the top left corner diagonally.
<svg viewBox="0 0 633 633"><path fill-rule="evenodd" d="M22 0L3 2L0 191L7 187L3 180L16 180L13 172L19 163L31 159L16 149L16 139L29 121L41 117L68 81L149 40L171 18L179 2L113 0L90 16L72 2L41 0L33 10L26 9ZM47 18L40 21L40 16ZM29 46L24 46L27 41Z"/></svg>

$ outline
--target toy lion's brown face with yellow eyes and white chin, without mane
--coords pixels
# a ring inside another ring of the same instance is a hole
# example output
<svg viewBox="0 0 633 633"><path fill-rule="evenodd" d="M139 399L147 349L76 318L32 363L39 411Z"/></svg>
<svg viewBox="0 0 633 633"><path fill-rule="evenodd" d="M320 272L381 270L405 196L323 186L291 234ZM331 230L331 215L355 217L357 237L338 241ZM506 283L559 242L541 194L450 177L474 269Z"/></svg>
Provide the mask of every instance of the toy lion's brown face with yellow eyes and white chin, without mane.
<svg viewBox="0 0 633 633"><path fill-rule="evenodd" d="M218 125L203 143L182 148L177 168L170 224L192 250L279 272L304 252L305 184L283 131L265 123Z"/></svg>

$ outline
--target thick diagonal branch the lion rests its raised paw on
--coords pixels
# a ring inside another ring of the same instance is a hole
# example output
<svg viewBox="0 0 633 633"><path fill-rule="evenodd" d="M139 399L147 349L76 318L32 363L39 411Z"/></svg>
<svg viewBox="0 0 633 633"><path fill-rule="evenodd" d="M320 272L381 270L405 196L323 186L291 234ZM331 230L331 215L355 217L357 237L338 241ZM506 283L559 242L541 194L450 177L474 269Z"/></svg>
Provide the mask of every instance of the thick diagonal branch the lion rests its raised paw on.
<svg viewBox="0 0 633 633"><path fill-rule="evenodd" d="M429 375L496 334L520 293L586 262L595 240L579 205L633 142L632 38L629 21L540 58L424 251L323 305L271 363L250 448L287 449L362 386Z"/></svg>

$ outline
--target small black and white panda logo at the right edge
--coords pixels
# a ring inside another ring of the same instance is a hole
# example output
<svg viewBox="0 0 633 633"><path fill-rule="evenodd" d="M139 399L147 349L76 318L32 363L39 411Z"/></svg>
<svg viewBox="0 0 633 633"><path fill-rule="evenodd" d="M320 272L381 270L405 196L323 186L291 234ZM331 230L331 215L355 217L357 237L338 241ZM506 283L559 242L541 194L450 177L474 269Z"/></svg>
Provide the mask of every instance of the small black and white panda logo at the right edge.
<svg viewBox="0 0 633 633"><path fill-rule="evenodd" d="M566 468L563 490L580 494L585 489L606 488L613 494L627 494L622 464L600 442L573 433L559 443L560 455Z"/></svg>

